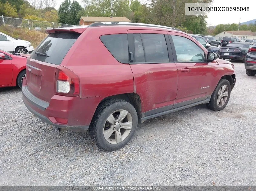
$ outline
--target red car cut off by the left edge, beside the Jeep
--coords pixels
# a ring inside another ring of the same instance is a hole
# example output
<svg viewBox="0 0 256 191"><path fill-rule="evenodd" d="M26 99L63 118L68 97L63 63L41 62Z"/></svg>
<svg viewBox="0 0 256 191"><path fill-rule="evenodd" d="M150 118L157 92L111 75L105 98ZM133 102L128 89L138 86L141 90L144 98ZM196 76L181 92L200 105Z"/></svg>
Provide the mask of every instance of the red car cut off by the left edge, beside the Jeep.
<svg viewBox="0 0 256 191"><path fill-rule="evenodd" d="M28 57L28 54L11 54L0 50L0 88L16 85L22 87Z"/></svg>

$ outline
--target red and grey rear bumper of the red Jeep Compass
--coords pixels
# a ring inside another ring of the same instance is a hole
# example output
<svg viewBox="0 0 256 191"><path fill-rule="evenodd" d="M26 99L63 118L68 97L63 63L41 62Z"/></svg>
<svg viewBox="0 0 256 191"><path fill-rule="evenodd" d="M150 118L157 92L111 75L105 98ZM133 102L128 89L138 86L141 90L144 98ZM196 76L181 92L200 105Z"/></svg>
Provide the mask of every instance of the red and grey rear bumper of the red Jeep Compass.
<svg viewBox="0 0 256 191"><path fill-rule="evenodd" d="M81 104L79 96L67 98L54 95L48 103L35 97L25 85L22 86L22 100L31 113L50 125L77 132L86 132L89 128L86 116L81 115L86 115L86 112L78 108Z"/></svg>

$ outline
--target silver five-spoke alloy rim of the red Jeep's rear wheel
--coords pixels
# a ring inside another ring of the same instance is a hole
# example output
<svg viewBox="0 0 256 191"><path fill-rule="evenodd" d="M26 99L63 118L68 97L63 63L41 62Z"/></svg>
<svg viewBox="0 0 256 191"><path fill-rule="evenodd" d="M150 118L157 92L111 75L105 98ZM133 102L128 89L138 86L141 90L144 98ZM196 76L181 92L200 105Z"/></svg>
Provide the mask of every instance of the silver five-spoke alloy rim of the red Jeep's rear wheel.
<svg viewBox="0 0 256 191"><path fill-rule="evenodd" d="M126 110L117 110L108 116L103 127L107 142L117 144L125 140L132 128L131 114Z"/></svg>

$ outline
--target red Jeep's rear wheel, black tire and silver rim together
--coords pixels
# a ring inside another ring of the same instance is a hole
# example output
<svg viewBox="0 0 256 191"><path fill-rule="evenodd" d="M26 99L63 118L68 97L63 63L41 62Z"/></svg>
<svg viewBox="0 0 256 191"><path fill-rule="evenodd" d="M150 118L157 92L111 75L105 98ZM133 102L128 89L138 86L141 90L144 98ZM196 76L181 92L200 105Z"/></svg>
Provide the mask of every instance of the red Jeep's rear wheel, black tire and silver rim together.
<svg viewBox="0 0 256 191"><path fill-rule="evenodd" d="M114 151L124 147L131 140L137 125L135 108L127 101L111 99L97 108L89 131L99 147Z"/></svg>

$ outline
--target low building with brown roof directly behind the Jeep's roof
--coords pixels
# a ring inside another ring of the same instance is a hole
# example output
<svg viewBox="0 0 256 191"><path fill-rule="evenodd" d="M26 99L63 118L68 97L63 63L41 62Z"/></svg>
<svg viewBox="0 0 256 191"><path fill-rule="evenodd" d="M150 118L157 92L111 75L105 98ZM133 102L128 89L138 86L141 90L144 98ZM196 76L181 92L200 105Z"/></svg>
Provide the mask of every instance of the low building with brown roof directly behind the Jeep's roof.
<svg viewBox="0 0 256 191"><path fill-rule="evenodd" d="M81 17L80 25L89 25L95 22L131 22L126 17Z"/></svg>

